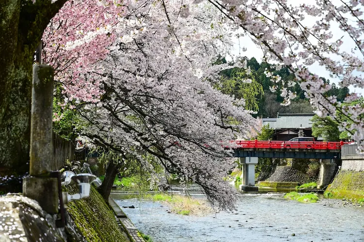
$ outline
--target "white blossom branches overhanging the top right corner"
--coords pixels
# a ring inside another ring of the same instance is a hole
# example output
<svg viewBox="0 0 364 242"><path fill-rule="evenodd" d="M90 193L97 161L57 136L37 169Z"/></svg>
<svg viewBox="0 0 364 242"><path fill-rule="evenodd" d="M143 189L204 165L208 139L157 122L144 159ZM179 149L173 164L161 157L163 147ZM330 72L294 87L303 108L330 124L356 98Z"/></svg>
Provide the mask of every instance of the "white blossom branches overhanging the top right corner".
<svg viewBox="0 0 364 242"><path fill-rule="evenodd" d="M310 98L319 116L344 115L349 122L340 123L341 131L348 131L364 147L364 122L360 105L341 105L334 96L324 93L331 89L308 67L320 65L339 80L343 87L363 88L363 4L361 0L316 0L289 2L286 0L231 1L209 0L224 15L225 20L242 29L262 49L265 61L288 65L297 82ZM340 32L341 31L341 32ZM345 43L345 45L344 45ZM272 91L281 81L272 76ZM295 94L287 91L294 83L282 83L284 104ZM360 93L346 97L346 103L360 98ZM338 111L338 112L336 112Z"/></svg>

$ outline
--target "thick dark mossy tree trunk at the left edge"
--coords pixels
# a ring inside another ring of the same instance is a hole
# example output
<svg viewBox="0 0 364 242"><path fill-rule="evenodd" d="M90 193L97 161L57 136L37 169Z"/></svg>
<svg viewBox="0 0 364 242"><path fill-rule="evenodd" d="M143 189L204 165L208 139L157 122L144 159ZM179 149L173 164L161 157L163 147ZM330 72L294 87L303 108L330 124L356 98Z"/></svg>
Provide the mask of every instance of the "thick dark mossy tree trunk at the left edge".
<svg viewBox="0 0 364 242"><path fill-rule="evenodd" d="M0 2L0 177L19 176L29 170L34 50L65 2ZM1 186L0 191L19 192L21 184L16 184Z"/></svg>

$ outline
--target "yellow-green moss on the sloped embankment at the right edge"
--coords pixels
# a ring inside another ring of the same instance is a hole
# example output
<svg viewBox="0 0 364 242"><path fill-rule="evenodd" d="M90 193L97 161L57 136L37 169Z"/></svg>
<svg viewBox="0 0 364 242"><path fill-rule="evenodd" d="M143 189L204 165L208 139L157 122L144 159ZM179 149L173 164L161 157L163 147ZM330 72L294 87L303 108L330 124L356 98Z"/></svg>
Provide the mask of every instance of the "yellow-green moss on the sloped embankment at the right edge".
<svg viewBox="0 0 364 242"><path fill-rule="evenodd" d="M364 172L340 171L324 195L359 202L364 199Z"/></svg>

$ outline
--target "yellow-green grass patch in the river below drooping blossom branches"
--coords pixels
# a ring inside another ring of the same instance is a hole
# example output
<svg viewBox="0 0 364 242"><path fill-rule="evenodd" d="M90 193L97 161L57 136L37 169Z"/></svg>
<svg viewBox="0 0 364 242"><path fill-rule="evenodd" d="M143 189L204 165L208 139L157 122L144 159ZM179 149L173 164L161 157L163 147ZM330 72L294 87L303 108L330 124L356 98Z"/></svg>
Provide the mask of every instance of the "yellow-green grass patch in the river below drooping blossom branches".
<svg viewBox="0 0 364 242"><path fill-rule="evenodd" d="M213 211L210 205L207 204L207 201L195 199L188 196L154 194L146 195L145 198L153 200L155 202L166 203L169 206L171 212L181 215L203 216Z"/></svg>

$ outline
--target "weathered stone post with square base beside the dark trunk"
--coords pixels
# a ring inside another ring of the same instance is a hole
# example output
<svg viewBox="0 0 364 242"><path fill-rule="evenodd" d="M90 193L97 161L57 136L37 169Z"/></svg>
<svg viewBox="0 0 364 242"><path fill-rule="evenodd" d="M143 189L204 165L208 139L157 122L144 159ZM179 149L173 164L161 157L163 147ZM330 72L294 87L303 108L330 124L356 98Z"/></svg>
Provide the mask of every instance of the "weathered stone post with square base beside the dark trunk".
<svg viewBox="0 0 364 242"><path fill-rule="evenodd" d="M23 182L23 194L36 200L48 213L58 213L58 180L50 177L53 163L53 76L51 66L33 66L30 177L24 178Z"/></svg>

